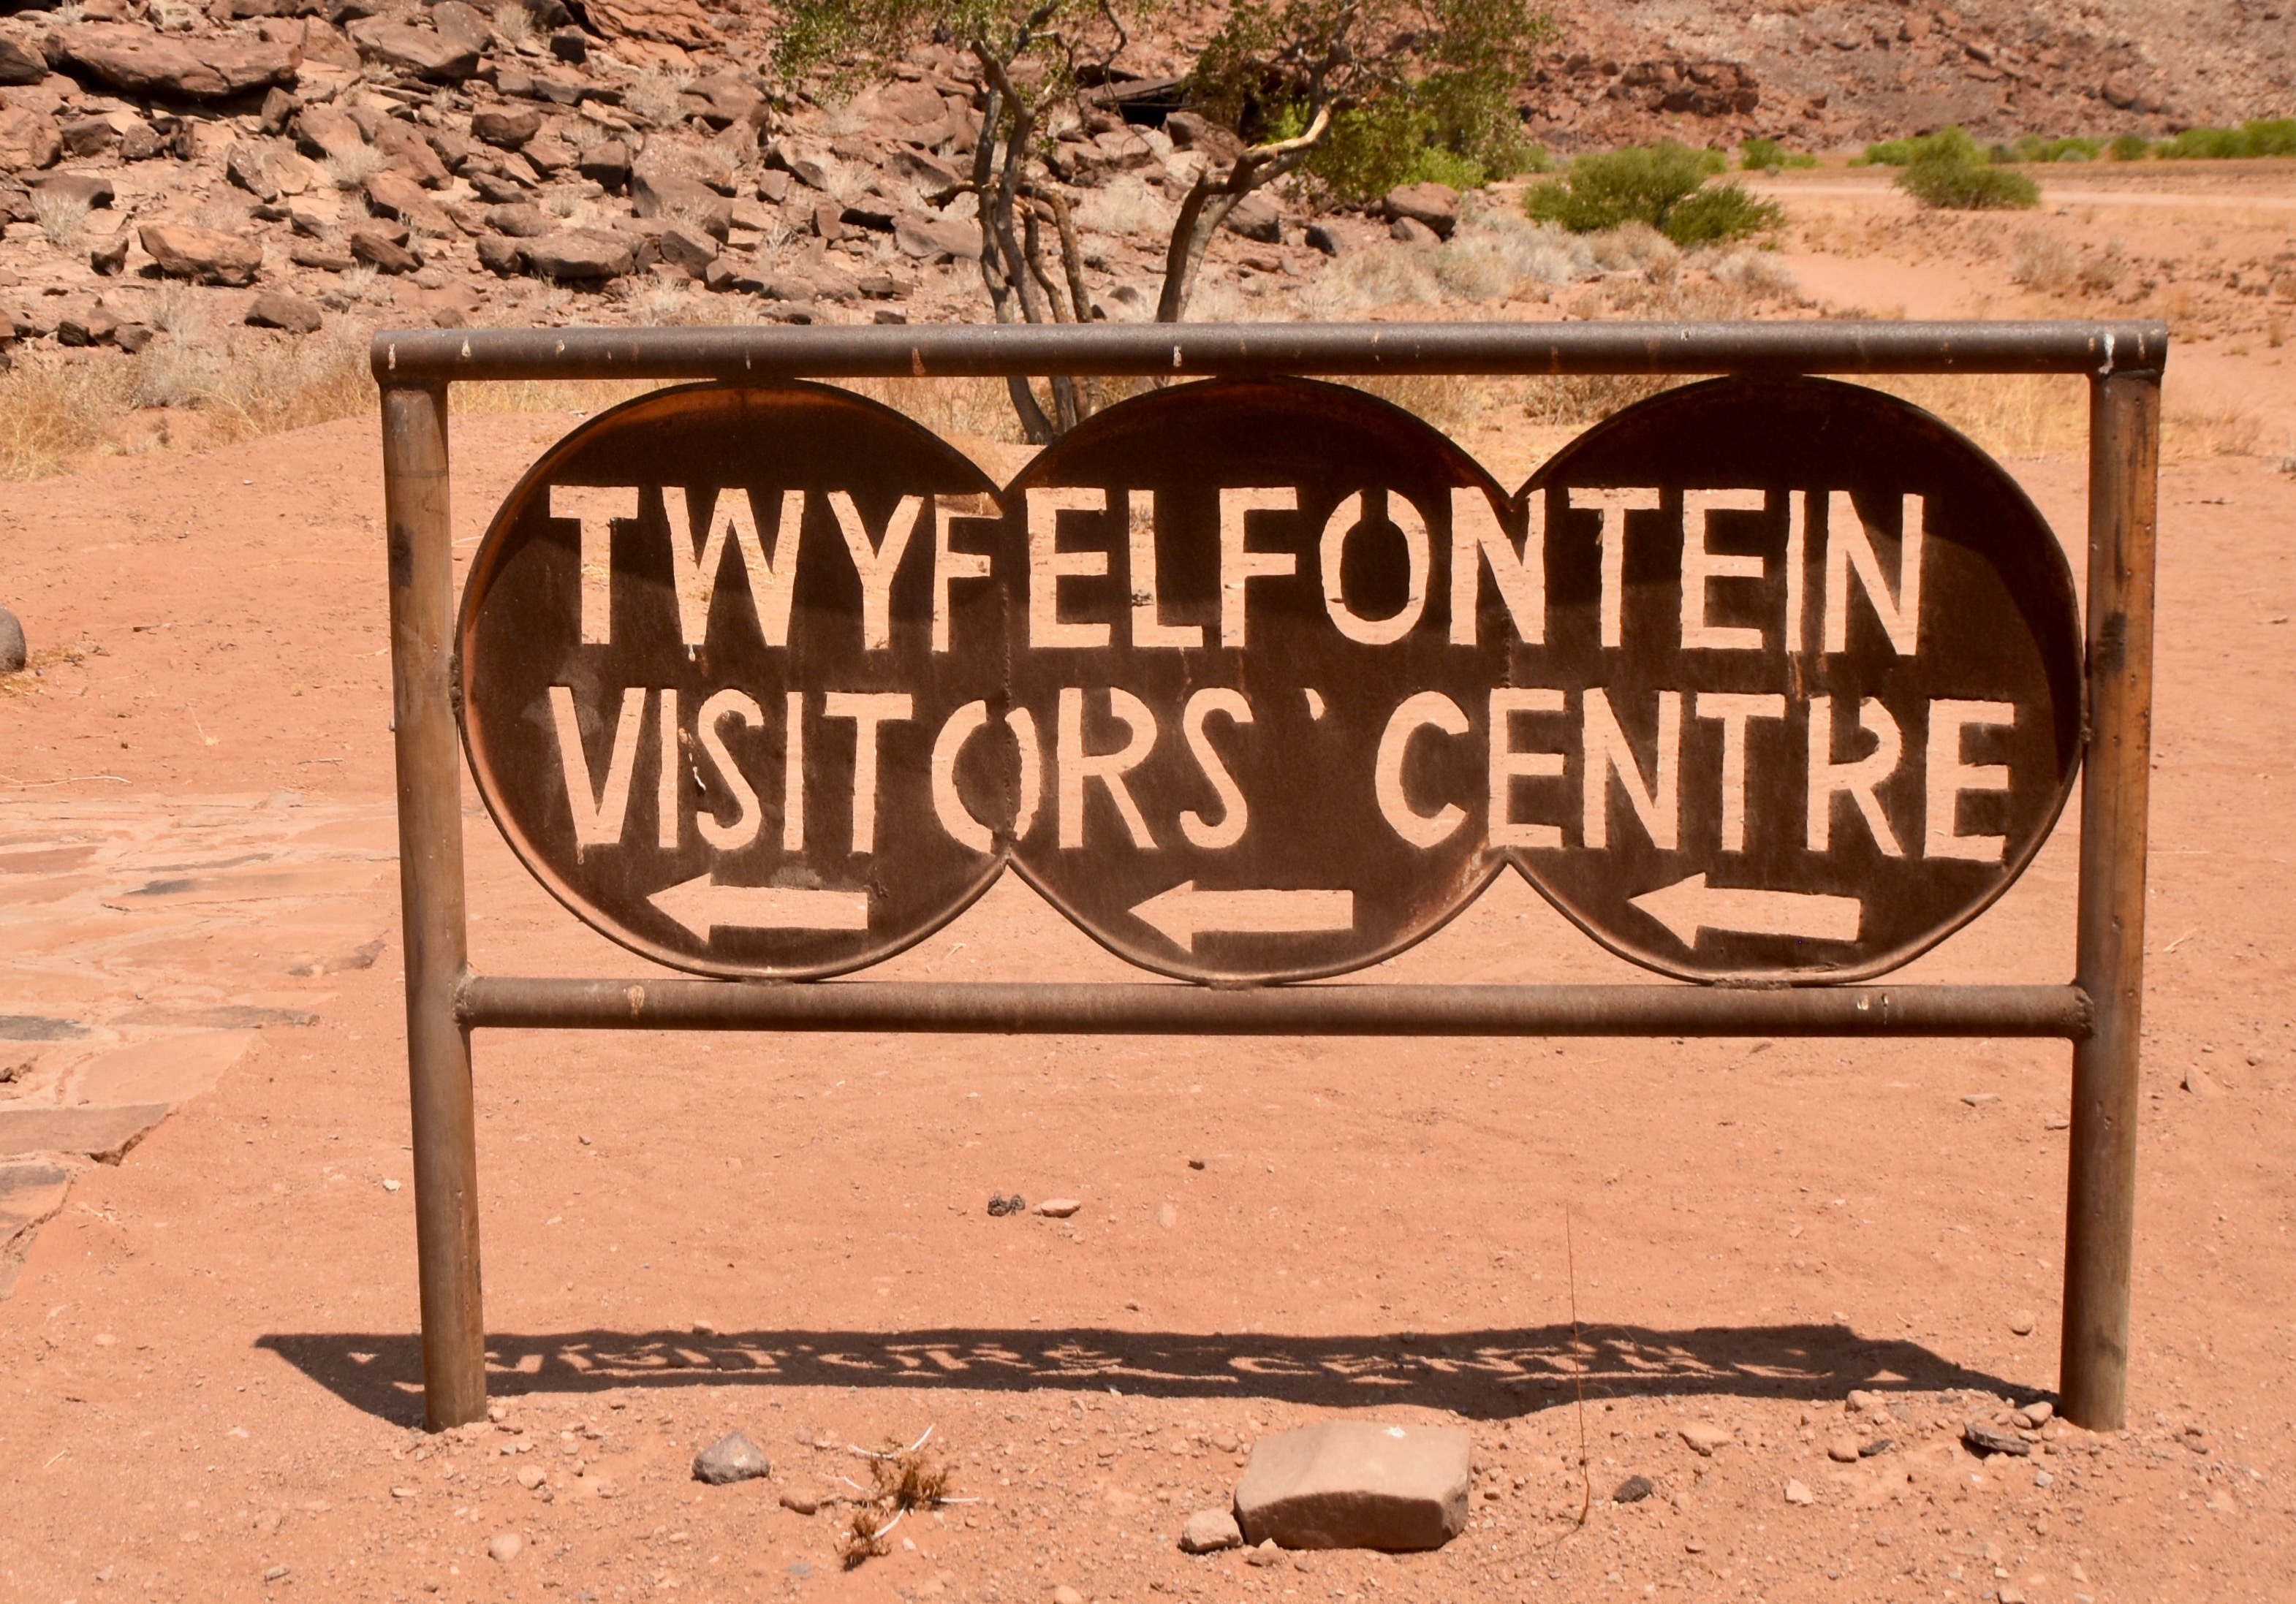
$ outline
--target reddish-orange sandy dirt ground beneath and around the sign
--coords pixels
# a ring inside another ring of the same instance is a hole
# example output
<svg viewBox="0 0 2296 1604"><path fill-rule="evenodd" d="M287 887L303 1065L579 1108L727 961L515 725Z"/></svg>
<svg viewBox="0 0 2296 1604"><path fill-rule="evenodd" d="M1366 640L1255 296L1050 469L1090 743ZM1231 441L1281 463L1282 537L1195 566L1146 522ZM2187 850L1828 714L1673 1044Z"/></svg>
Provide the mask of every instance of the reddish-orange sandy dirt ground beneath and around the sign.
<svg viewBox="0 0 2296 1604"><path fill-rule="evenodd" d="M1913 317L2066 310L1988 227L2236 255L2296 197L2200 246L2218 200L1947 229L1793 184L1805 289ZM2069 1056L2030 1042L482 1035L501 1418L425 1436L374 427L7 486L51 652L0 686L0 1131L149 1113L0 1191L0 1597L2296 1597L2296 383L2227 305L2170 365L2255 427L2161 486L2131 1430L2023 1459L1961 1427L2055 1386ZM457 425L464 551L569 425ZM1548 445L1474 438L1502 480ZM2011 466L2078 539L2078 452ZM482 971L631 973L468 812ZM2064 980L2071 863L2069 819L1908 978ZM1130 978L1017 879L882 973ZM1382 978L1632 971L1506 879ZM1467 1425L1469 1531L1178 1551L1332 1411ZM840 1570L852 1446L928 1427L962 1503ZM771 1475L703 1487L730 1430Z"/></svg>

